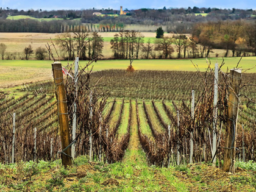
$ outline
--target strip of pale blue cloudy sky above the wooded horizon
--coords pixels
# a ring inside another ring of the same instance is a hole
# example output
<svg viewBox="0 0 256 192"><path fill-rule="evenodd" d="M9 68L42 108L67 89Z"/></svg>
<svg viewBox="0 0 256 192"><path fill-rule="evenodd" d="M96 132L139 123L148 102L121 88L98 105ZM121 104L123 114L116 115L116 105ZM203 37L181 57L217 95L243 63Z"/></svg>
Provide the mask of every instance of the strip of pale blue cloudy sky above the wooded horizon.
<svg viewBox="0 0 256 192"><path fill-rule="evenodd" d="M206 1L206 0L183 0L183 1L174 1L174 0L0 0L0 7L18 10L28 10L28 9L42 9L42 10L57 10L57 9L119 9L120 5L124 9L140 9L140 8L151 8L151 9L162 9L164 6L166 8L186 8L187 7L216 7L221 9L254 9L256 10L256 1L255 0L215 0L215 1Z"/></svg>

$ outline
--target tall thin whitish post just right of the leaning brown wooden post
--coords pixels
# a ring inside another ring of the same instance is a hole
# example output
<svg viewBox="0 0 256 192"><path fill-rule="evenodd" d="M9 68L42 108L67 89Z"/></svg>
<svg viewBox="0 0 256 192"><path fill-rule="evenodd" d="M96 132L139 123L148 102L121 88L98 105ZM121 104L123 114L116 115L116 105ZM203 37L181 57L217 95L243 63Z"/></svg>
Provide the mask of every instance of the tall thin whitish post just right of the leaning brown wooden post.
<svg viewBox="0 0 256 192"><path fill-rule="evenodd" d="M76 62L75 62L75 72L74 72L74 83L75 83L75 87L76 87L76 91L74 93L75 98L77 97L77 74L78 74L78 64L79 64L79 58L76 58ZM74 141L76 139L76 101L74 101L74 105L73 105L73 122L72 122L72 140ZM74 159L75 157L75 149L76 149L76 143L74 143L71 146L71 156Z"/></svg>

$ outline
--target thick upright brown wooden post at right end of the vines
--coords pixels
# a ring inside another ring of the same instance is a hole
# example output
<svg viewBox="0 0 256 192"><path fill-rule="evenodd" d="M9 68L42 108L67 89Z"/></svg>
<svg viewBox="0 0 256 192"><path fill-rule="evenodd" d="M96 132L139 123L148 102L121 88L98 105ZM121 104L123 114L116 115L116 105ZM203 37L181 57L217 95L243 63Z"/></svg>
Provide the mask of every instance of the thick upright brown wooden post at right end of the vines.
<svg viewBox="0 0 256 192"><path fill-rule="evenodd" d="M241 69L230 70L230 86L229 98L227 101L227 130L226 130L226 144L224 149L224 171L235 172L235 135L236 135L236 118L238 113L238 94L241 82Z"/></svg>

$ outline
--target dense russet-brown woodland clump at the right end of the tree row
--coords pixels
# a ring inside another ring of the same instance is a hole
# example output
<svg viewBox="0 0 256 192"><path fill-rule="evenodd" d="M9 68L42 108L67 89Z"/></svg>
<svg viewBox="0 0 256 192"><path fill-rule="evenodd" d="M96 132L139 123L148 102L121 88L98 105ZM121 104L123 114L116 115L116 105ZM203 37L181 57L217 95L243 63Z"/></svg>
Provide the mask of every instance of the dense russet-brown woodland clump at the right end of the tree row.
<svg viewBox="0 0 256 192"><path fill-rule="evenodd" d="M199 44L200 57L208 57L212 49L225 49L224 57L227 57L230 50L232 57L256 55L256 22L218 21L196 24L192 37Z"/></svg>

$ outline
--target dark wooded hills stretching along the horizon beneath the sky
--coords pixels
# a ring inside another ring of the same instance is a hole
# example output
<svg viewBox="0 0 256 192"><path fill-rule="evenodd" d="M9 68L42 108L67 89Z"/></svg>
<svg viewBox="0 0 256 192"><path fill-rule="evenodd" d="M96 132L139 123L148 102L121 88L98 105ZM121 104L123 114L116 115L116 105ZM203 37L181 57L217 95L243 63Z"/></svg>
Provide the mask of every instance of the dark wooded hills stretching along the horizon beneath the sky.
<svg viewBox="0 0 256 192"><path fill-rule="evenodd" d="M102 13L101 16L93 15L94 12ZM202 15L198 15L198 14ZM167 32L192 33L197 23L230 21L230 20L256 20L256 11L242 9L217 9L188 7L188 9L138 9L129 10L127 15L119 14L113 9L87 9L87 10L17 10L9 7L0 8L0 32L63 32L64 27L77 25L91 25L94 31L119 31L130 24L145 26L165 26ZM62 18L62 20L7 20L8 16L27 15L35 18ZM75 20L76 19L76 20ZM89 27L88 27L89 28ZM157 27L155 27L156 29ZM143 28L140 29L143 31Z"/></svg>

